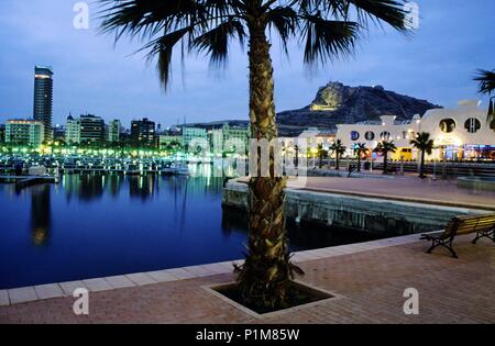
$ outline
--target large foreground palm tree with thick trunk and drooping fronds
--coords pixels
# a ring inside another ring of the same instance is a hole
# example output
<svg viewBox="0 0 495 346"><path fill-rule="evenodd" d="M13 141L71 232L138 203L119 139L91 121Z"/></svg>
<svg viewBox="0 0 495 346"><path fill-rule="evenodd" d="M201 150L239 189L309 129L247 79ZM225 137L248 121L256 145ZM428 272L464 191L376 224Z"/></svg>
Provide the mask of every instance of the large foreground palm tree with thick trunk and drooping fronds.
<svg viewBox="0 0 495 346"><path fill-rule="evenodd" d="M148 40L143 49L157 56L164 88L170 77L174 47L196 51L221 66L230 42L249 42L250 121L252 138L277 137L270 34L283 51L295 38L307 64L326 63L354 52L361 34L386 23L407 33L403 0L100 0L102 31ZM260 158L257 158L260 160ZM283 214L286 179L275 177L272 154L268 177L249 183L250 235L244 265L237 267L238 288L246 304L284 306L294 271ZM260 163L258 163L260 164ZM260 164L258 167L262 165Z"/></svg>

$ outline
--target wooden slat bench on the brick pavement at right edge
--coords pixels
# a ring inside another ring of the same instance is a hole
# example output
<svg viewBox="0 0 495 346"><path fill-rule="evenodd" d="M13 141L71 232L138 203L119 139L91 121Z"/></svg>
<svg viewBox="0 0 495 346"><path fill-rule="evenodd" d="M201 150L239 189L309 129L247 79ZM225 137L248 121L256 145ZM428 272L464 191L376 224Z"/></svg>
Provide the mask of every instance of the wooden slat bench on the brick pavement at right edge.
<svg viewBox="0 0 495 346"><path fill-rule="evenodd" d="M495 242L495 214L457 216L450 220L446 230L429 234L421 234L421 239L431 241L431 247L427 250L431 254L437 246L443 246L450 250L454 258L458 258L452 242L458 235L476 233L473 244L482 237L491 238Z"/></svg>

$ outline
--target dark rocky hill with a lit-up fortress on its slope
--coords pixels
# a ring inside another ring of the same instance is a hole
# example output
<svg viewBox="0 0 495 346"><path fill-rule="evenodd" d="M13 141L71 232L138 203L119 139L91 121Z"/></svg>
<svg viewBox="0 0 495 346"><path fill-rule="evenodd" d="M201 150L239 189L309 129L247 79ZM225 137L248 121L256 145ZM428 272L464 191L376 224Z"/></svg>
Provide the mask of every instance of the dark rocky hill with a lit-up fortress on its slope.
<svg viewBox="0 0 495 346"><path fill-rule="evenodd" d="M337 124L378 120L380 115L397 115L397 120L408 120L415 114L424 115L430 109L441 108L426 100L376 87L349 87L341 82L329 82L321 87L315 100L299 110L277 114L283 129L322 127L336 129Z"/></svg>

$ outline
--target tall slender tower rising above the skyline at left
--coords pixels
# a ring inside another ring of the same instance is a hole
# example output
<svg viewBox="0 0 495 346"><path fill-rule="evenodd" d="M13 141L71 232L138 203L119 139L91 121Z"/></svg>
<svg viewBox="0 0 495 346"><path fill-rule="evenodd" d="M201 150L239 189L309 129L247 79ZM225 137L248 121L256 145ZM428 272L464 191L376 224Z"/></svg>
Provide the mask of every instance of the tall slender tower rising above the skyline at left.
<svg viewBox="0 0 495 346"><path fill-rule="evenodd" d="M33 118L44 126L44 141L52 141L53 70L51 67L34 67Z"/></svg>

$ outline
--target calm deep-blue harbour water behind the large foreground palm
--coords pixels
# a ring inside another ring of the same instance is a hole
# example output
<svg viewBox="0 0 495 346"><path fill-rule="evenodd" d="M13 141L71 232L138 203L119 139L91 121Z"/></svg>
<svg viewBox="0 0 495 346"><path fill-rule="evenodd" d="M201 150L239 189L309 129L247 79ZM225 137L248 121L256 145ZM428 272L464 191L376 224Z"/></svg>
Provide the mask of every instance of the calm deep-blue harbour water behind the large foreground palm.
<svg viewBox="0 0 495 346"><path fill-rule="evenodd" d="M222 210L221 178L66 175L0 185L0 289L242 258L246 215ZM376 238L289 226L292 250Z"/></svg>

